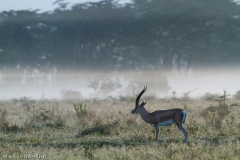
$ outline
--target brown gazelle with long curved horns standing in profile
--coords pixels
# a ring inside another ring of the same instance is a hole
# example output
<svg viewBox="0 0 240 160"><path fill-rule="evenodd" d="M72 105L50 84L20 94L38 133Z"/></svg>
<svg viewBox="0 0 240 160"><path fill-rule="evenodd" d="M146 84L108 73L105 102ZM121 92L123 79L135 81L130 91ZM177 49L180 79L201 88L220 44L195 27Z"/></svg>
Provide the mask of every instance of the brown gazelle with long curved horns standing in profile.
<svg viewBox="0 0 240 160"><path fill-rule="evenodd" d="M154 111L152 113L149 113L144 108L144 105L147 102L142 102L139 105L139 100L140 100L142 94L146 91L146 89L147 89L147 86L144 87L142 92L139 93L139 95L137 96L136 106L132 110L131 113L132 114L138 114L139 113L140 116L142 117L142 119L146 123L149 123L150 125L152 125L153 127L156 128L156 141L157 142L158 142L159 128L161 126L169 126L169 125L172 125L173 123L175 123L178 126L178 128L183 132L184 137L185 137L184 142L187 143L188 132L183 127L183 124L184 124L186 116L187 116L187 112L182 110L182 109L175 108L175 109L168 109L168 110L157 110L157 111Z"/></svg>

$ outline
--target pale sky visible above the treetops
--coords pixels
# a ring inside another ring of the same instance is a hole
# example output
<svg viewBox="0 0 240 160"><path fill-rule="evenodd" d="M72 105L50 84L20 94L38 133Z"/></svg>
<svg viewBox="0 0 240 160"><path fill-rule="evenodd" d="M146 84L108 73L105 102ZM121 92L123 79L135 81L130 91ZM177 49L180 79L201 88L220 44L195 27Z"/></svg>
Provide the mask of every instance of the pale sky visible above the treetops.
<svg viewBox="0 0 240 160"><path fill-rule="evenodd" d="M58 5L53 3L56 0L0 0L0 12L10 10L35 10L41 9L40 12L52 11ZM71 4L84 2L98 2L99 0L65 0ZM121 0L120 3L129 2L130 0Z"/></svg>

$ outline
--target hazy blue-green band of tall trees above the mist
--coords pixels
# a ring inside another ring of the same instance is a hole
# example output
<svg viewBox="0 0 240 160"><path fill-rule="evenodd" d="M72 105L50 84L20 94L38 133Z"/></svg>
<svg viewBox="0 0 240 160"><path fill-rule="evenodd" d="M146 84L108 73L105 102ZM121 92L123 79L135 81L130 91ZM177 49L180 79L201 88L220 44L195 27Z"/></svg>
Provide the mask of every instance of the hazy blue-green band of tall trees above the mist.
<svg viewBox="0 0 240 160"><path fill-rule="evenodd" d="M239 61L229 0L112 0L0 13L1 70L188 69Z"/></svg>

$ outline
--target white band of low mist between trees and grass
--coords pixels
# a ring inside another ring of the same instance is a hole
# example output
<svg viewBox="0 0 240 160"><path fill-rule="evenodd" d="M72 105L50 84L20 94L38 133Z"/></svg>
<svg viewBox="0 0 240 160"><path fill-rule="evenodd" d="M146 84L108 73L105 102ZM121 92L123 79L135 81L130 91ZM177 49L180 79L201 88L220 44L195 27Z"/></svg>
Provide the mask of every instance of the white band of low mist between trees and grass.
<svg viewBox="0 0 240 160"><path fill-rule="evenodd" d="M1 78L1 99L64 99L65 92L78 93L69 99L119 98L136 96L144 85L148 86L146 94L157 98L171 98L173 92L176 92L174 96L178 98L188 92L190 98L201 98L206 93L222 95L224 90L232 96L240 90L240 71L236 68L188 71L182 74L161 71L57 73L54 77L47 76L45 82L35 79L32 83L24 81L24 77L16 76L19 74Z"/></svg>

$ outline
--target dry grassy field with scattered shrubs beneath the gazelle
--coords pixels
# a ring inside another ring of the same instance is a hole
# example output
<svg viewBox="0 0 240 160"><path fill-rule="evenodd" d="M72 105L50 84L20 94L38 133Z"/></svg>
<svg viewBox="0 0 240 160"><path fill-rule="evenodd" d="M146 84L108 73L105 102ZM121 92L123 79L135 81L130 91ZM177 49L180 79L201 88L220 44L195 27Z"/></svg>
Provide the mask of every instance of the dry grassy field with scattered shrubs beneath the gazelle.
<svg viewBox="0 0 240 160"><path fill-rule="evenodd" d="M146 109L182 108L189 143L175 125L155 130L132 115L134 97L0 101L1 158L240 159L240 108L216 101L143 97ZM223 109L221 109L223 108ZM2 158L3 157L3 158Z"/></svg>

